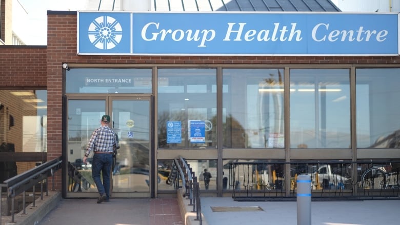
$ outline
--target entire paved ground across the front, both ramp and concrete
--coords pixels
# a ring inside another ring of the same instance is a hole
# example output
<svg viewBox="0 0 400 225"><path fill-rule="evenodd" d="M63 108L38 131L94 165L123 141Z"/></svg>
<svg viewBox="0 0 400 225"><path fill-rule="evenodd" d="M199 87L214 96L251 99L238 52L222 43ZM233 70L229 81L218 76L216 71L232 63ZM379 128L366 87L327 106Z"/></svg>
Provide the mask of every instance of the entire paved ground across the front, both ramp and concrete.
<svg viewBox="0 0 400 225"><path fill-rule="evenodd" d="M51 193L44 201L36 201L35 209L27 207L26 215L17 214L16 223L5 222L7 217L3 217L2 225L199 224L195 213L191 212L193 207L189 206L189 200L181 194L176 200L115 198L96 204L96 199L62 199L59 193ZM231 197L201 197L201 204L203 225L297 224L296 201L234 201ZM399 210L400 200L312 201L311 225L399 224ZM35 214L42 217L35 217Z"/></svg>

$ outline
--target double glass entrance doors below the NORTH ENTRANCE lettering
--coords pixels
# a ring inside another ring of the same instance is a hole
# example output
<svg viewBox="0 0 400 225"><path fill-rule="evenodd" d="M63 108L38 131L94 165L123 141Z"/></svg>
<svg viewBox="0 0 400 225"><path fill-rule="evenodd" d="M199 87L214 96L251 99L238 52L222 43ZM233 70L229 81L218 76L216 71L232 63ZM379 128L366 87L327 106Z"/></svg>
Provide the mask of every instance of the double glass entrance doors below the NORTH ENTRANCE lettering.
<svg viewBox="0 0 400 225"><path fill-rule="evenodd" d="M97 197L91 176L91 159L82 163L93 131L102 115L111 116L118 136L118 154L112 170L112 197L151 197L154 176L151 154L151 97L96 96L67 99L67 197Z"/></svg>

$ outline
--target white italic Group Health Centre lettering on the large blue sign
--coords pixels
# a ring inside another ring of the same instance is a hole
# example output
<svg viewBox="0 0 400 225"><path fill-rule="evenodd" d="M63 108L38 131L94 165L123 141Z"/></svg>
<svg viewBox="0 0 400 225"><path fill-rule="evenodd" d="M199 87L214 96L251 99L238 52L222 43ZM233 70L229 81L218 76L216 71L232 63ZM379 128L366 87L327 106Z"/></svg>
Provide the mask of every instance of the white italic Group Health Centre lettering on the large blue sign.
<svg viewBox="0 0 400 225"><path fill-rule="evenodd" d="M215 30L182 30L182 29L159 29L159 23L148 23L142 29L142 38L148 42L153 40L165 41L171 38L175 42L186 40L188 42L199 42L197 47L207 47L206 42L210 42L215 38ZM273 30L245 30L246 23L239 23L235 28L235 23L228 23L224 42L234 41L251 42L299 42L303 39L302 31L296 29L296 23L291 24L290 31L287 26L280 26L274 23ZM153 29L151 29L154 27ZM236 30L235 30L236 29ZM155 30L155 31L149 31ZM149 34L150 33L150 34ZM387 30L364 30L361 26L357 30L329 30L329 24L317 24L311 32L312 39L315 42L369 42L371 38L375 38L377 42L383 42L388 35ZM150 36L150 37L148 37ZM233 36L233 37L232 37Z"/></svg>

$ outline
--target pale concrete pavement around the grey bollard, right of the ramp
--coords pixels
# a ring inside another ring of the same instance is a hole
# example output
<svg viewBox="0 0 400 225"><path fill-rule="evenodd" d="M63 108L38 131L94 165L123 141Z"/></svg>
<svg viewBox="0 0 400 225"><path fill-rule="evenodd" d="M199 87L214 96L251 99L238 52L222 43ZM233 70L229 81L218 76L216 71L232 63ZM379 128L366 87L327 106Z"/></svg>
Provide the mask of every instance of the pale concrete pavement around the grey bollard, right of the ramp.
<svg viewBox="0 0 400 225"><path fill-rule="evenodd" d="M297 224L296 201L233 201L231 197L202 197L201 203L202 213L209 225ZM228 212L214 212L211 209L218 206L234 208ZM238 209L240 207L243 210ZM251 211L257 210L257 207L262 210ZM400 224L400 200L312 201L311 224Z"/></svg>

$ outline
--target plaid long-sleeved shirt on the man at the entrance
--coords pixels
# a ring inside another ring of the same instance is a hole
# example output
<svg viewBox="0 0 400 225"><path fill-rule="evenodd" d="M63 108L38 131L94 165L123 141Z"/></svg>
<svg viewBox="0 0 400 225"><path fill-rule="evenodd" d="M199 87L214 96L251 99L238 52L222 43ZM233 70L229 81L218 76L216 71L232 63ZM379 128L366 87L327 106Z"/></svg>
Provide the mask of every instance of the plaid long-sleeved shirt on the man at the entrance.
<svg viewBox="0 0 400 225"><path fill-rule="evenodd" d="M93 150L95 152L113 152L118 147L114 131L108 126L102 126L93 131L86 148L86 155Z"/></svg>

